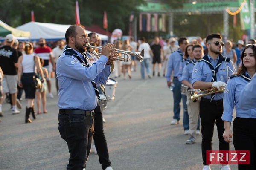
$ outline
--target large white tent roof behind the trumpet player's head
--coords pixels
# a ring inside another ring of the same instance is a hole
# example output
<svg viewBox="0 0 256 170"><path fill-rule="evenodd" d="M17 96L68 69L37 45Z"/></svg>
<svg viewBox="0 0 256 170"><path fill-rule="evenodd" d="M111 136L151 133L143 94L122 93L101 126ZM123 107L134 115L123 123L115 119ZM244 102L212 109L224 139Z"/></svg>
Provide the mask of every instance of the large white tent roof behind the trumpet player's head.
<svg viewBox="0 0 256 170"><path fill-rule="evenodd" d="M30 40L44 38L46 40L65 39L65 33L70 25L61 25L55 23L29 22L16 27L23 31L30 31ZM91 31L86 30L87 34ZM102 40L108 40L107 35L98 34Z"/></svg>

